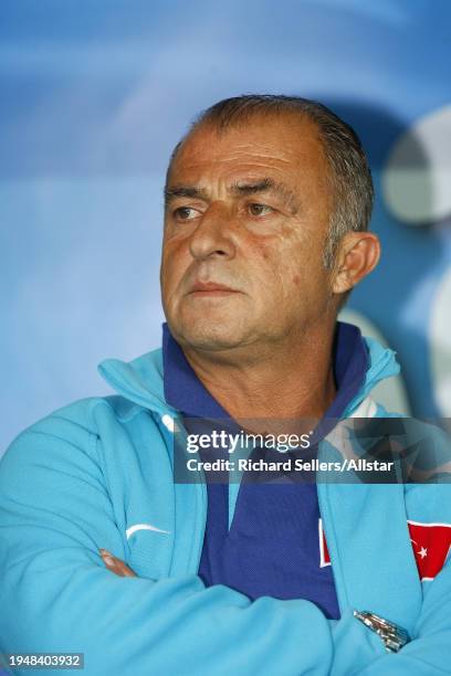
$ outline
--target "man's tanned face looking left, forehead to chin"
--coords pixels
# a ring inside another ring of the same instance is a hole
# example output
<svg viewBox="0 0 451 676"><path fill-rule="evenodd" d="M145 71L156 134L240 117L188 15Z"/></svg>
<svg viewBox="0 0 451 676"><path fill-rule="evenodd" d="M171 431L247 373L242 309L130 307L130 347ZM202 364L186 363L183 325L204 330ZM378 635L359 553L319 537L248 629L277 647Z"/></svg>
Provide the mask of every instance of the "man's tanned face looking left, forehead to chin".
<svg viewBox="0 0 451 676"><path fill-rule="evenodd" d="M316 126L291 115L188 137L168 179L161 262L164 309L181 345L258 350L324 318L326 172Z"/></svg>

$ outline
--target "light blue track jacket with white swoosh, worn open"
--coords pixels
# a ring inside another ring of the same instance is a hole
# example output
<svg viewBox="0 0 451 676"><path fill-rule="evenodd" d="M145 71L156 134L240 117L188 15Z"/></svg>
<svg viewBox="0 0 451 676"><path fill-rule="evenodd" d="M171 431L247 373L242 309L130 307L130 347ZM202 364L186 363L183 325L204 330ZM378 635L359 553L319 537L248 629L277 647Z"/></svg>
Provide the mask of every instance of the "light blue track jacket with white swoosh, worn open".
<svg viewBox="0 0 451 676"><path fill-rule="evenodd" d="M345 415L386 414L368 394L398 366L367 344L366 382ZM421 582L407 526L451 524L449 485L318 483L338 621L302 599L206 589L206 485L172 480L177 411L161 352L99 369L118 395L54 412L0 462L0 652L83 652L86 676L451 674L451 566ZM99 548L138 577L106 570ZM354 609L412 642L387 654Z"/></svg>

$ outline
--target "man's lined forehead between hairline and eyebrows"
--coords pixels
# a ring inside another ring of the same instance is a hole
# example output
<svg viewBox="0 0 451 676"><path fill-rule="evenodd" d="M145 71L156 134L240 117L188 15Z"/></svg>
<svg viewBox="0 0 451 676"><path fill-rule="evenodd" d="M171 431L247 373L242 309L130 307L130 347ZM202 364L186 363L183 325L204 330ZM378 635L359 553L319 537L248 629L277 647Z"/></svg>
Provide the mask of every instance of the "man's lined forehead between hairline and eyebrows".
<svg viewBox="0 0 451 676"><path fill-rule="evenodd" d="M172 162L169 182L209 178L237 180L241 175L276 176L293 183L326 179L327 160L317 126L306 117L284 114L251 116L227 129L203 124L182 142Z"/></svg>

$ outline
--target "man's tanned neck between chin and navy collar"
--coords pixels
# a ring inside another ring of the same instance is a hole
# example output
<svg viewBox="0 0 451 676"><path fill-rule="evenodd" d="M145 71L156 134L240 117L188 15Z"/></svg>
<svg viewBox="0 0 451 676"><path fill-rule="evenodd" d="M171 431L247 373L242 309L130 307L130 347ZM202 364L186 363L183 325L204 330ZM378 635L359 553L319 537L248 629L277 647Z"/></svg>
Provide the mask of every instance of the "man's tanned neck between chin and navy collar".
<svg viewBox="0 0 451 676"><path fill-rule="evenodd" d="M319 419L334 400L335 319L310 331L272 344L251 346L247 358L183 347L197 377L237 421L245 419Z"/></svg>

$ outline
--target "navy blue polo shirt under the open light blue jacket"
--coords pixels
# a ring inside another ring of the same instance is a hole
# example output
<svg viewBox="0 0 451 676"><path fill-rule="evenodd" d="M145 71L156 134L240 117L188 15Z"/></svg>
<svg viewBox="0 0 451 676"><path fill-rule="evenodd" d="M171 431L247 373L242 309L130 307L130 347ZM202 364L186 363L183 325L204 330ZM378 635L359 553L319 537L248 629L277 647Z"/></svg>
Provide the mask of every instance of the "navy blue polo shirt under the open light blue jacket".
<svg viewBox="0 0 451 676"><path fill-rule="evenodd" d="M186 418L230 420L197 378L168 326L162 328L166 401ZM363 385L368 362L359 329L337 323L337 391L325 416L342 416ZM227 484L207 484L207 525L198 571L204 584L226 584L252 600L263 595L306 599L326 617L339 619L332 569L321 560L316 485L242 480L230 528L229 488Z"/></svg>

